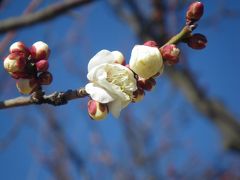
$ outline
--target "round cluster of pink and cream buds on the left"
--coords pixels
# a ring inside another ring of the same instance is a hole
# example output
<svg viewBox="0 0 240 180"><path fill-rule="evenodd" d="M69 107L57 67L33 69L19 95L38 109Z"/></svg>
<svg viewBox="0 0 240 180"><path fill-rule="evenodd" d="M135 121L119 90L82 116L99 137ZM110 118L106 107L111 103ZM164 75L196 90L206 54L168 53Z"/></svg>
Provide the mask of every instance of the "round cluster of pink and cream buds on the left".
<svg viewBox="0 0 240 180"><path fill-rule="evenodd" d="M41 90L41 85L52 82L48 72L50 49L42 41L27 48L22 42L15 42L9 48L9 55L4 59L4 69L17 79L16 86L20 93L31 94Z"/></svg>

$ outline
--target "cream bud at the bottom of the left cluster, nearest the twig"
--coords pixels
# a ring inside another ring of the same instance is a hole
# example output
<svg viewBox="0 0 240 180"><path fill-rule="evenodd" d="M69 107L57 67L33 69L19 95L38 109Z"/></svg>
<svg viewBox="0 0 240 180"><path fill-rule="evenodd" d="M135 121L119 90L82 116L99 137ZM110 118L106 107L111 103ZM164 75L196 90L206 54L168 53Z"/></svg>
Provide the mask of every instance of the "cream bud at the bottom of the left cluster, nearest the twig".
<svg viewBox="0 0 240 180"><path fill-rule="evenodd" d="M22 94L31 94L39 88L36 79L19 79L16 86L18 91Z"/></svg>

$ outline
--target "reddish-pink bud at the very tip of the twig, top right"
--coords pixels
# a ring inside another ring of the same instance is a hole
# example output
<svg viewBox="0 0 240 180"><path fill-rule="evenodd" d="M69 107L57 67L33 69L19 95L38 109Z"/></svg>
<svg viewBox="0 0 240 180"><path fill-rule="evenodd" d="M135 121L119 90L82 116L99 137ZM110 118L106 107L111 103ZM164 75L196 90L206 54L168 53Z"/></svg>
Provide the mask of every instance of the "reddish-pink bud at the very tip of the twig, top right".
<svg viewBox="0 0 240 180"><path fill-rule="evenodd" d="M203 3L199 1L192 3L189 6L188 11L186 13L187 22L198 21L202 17L203 11L204 11Z"/></svg>

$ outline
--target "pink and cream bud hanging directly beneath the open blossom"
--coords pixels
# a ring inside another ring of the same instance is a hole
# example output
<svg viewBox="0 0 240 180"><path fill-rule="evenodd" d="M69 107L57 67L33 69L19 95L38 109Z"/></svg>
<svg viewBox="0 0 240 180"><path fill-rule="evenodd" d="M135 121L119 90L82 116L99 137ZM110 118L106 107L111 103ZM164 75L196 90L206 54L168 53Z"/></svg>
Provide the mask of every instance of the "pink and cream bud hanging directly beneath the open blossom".
<svg viewBox="0 0 240 180"><path fill-rule="evenodd" d="M108 107L106 104L102 104L94 100L89 100L88 114L94 120L104 119L108 114Z"/></svg>

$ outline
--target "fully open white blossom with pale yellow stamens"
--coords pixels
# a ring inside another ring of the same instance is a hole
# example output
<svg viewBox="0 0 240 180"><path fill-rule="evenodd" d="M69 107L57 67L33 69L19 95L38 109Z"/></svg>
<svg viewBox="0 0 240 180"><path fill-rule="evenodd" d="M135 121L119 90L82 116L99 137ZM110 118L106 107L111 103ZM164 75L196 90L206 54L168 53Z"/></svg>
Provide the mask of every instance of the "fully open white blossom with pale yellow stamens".
<svg viewBox="0 0 240 180"><path fill-rule="evenodd" d="M91 81L85 86L87 93L93 100L108 104L115 117L131 102L137 90L133 72L115 63L113 53L108 50L101 50L89 61L87 78Z"/></svg>

